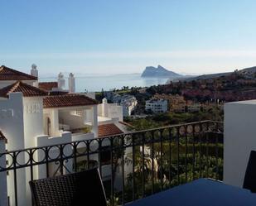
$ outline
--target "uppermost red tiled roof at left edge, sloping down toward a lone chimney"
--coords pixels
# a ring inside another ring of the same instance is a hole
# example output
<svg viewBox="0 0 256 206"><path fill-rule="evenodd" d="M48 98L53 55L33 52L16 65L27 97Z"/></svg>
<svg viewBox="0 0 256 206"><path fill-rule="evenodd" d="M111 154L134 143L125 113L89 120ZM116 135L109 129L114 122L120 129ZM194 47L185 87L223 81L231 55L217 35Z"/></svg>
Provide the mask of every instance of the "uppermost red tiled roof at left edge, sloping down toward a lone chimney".
<svg viewBox="0 0 256 206"><path fill-rule="evenodd" d="M37 77L2 65L0 66L0 80L37 80Z"/></svg>

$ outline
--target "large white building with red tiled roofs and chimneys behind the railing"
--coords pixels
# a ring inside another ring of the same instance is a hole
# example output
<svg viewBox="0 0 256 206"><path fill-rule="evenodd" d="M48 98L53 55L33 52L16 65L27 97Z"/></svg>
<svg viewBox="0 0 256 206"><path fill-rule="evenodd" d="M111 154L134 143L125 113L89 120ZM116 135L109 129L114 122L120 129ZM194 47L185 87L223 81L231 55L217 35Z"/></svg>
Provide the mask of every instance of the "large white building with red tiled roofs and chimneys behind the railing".
<svg viewBox="0 0 256 206"><path fill-rule="evenodd" d="M31 74L38 74L35 65ZM69 93L65 90L63 79L63 74L59 74L58 83L38 84L36 76L6 66L0 67L0 153L5 150L51 146L125 132L122 107L108 104L106 101L99 104L85 93L75 93L73 74L70 75ZM104 146L108 146L108 142L105 142ZM80 150L80 147L77 149ZM69 154L72 152L70 150L70 146L65 148L65 152ZM51 153L55 154L56 151L52 150ZM43 158L39 152L36 157ZM23 154L17 159L25 162L26 156ZM98 156L92 156L92 159L98 160ZM83 161L81 158L80 160ZM73 170L72 160L67 162L65 167ZM103 167L105 177L110 175L109 168L109 165ZM49 164L50 175L53 175L56 169L56 164ZM7 194L10 205L14 205L13 172L1 175L5 175L5 178L1 176L0 205L7 205ZM35 167L34 178L44 177L46 167ZM30 203L30 189L27 184L29 180L29 169L17 171L19 205Z"/></svg>

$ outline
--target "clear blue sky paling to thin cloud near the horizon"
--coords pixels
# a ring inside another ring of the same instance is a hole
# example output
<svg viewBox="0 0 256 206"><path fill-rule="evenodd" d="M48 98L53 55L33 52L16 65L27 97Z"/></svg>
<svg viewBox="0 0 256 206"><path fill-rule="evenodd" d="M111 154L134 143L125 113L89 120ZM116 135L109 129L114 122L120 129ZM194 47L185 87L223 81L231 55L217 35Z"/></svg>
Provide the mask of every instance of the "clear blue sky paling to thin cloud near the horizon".
<svg viewBox="0 0 256 206"><path fill-rule="evenodd" d="M0 65L210 74L256 65L255 0L0 0Z"/></svg>

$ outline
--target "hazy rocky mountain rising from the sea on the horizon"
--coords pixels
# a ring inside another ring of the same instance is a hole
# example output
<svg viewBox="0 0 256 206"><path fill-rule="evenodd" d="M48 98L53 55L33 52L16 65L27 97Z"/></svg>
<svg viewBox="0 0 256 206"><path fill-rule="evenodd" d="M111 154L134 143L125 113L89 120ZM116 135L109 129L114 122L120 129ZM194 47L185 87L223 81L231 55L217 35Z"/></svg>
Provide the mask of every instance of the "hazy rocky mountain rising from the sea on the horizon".
<svg viewBox="0 0 256 206"><path fill-rule="evenodd" d="M161 65L158 65L157 68L153 66L147 66L146 69L142 72L141 77L164 77L164 78L178 78L181 77L181 74L176 74L173 71L169 71L163 68Z"/></svg>

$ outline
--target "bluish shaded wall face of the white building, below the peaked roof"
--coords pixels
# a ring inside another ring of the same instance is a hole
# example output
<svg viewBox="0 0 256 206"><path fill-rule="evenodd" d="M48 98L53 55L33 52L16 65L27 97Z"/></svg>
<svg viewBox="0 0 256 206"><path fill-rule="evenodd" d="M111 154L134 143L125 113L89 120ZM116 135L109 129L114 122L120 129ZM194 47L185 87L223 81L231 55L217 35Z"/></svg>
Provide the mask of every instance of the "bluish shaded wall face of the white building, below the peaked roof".
<svg viewBox="0 0 256 206"><path fill-rule="evenodd" d="M0 101L0 127L3 134L7 137L7 150L18 150L24 148L24 122L23 122L23 101L22 93L10 93L9 98L1 99ZM7 157L9 164L12 164L12 159ZM17 156L17 161L24 163L24 155L21 153ZM10 204L14 205L14 176L13 171L7 176L7 190L10 196ZM24 197L26 190L24 184L26 174L24 169L17 170L17 198L21 205L26 205Z"/></svg>

